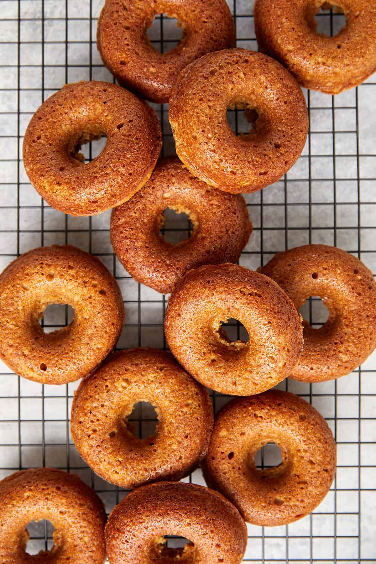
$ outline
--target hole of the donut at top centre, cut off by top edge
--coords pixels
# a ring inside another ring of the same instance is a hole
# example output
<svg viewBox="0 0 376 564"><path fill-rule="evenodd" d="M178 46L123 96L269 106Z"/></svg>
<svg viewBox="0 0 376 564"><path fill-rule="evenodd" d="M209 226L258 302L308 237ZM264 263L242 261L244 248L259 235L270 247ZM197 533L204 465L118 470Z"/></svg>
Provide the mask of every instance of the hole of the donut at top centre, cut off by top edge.
<svg viewBox="0 0 376 564"><path fill-rule="evenodd" d="M169 17L168 14L154 14L146 35L153 49L162 55L178 46L185 33L182 24L175 17Z"/></svg>

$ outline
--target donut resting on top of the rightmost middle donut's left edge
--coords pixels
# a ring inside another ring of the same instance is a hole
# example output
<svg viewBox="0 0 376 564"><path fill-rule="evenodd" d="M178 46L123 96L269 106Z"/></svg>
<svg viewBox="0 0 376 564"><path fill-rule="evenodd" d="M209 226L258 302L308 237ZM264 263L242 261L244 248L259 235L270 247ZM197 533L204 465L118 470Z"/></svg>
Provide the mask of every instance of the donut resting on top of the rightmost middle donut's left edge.
<svg viewBox="0 0 376 564"><path fill-rule="evenodd" d="M220 327L240 321L250 340ZM301 317L267 276L242 266L207 265L176 283L165 316L172 354L196 380L222 394L249 395L289 376L303 347Z"/></svg>

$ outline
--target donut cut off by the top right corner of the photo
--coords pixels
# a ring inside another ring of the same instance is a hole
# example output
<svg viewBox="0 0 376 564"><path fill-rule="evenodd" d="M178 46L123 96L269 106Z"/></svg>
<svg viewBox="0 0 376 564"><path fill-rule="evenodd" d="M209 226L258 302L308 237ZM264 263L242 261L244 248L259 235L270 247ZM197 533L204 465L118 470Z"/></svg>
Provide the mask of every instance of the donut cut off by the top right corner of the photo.
<svg viewBox="0 0 376 564"><path fill-rule="evenodd" d="M376 4L368 0L325 2L342 11L346 25L334 37L317 33L322 0L256 0L260 51L277 59L306 88L338 94L376 70Z"/></svg>

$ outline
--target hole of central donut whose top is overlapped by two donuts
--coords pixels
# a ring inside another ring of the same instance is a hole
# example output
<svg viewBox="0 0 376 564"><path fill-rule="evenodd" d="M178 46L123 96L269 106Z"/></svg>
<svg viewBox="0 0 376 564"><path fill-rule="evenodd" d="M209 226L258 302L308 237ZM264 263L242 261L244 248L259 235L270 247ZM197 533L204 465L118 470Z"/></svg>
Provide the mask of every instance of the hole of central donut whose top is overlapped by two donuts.
<svg viewBox="0 0 376 564"><path fill-rule="evenodd" d="M193 236L197 223L192 211L183 206L171 206L158 218L159 236L166 243L178 245Z"/></svg>

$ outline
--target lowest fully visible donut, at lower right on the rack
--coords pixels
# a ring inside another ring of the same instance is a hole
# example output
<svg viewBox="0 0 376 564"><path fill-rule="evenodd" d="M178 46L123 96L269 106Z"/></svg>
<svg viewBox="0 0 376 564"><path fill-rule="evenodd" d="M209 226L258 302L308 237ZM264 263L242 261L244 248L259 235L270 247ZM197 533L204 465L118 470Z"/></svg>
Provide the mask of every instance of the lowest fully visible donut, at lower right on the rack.
<svg viewBox="0 0 376 564"><path fill-rule="evenodd" d="M258 470L255 453L268 442L280 447L282 462ZM335 468L335 442L324 417L294 394L269 390L235 398L219 411L204 477L246 521L270 527L311 513L328 493Z"/></svg>

